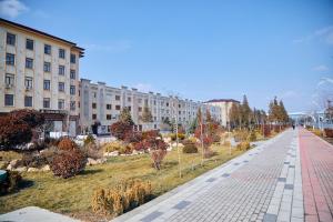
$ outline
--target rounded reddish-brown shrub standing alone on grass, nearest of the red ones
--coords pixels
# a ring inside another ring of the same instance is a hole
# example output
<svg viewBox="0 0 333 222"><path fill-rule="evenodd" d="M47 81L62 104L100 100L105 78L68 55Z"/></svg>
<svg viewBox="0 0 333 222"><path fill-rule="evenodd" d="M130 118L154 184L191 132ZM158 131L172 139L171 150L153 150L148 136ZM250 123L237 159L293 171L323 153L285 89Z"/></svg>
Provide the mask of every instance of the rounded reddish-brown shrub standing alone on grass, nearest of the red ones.
<svg viewBox="0 0 333 222"><path fill-rule="evenodd" d="M79 174L85 167L87 157L79 149L59 151L52 160L51 170L63 179Z"/></svg>

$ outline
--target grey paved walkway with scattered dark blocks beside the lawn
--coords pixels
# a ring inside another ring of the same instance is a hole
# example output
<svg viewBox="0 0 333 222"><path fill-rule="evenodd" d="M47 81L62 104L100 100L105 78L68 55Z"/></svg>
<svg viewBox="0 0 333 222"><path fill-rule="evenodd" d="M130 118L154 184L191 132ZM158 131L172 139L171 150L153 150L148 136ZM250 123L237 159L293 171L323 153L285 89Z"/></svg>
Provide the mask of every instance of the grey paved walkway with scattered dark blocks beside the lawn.
<svg viewBox="0 0 333 222"><path fill-rule="evenodd" d="M297 130L114 221L304 221Z"/></svg>

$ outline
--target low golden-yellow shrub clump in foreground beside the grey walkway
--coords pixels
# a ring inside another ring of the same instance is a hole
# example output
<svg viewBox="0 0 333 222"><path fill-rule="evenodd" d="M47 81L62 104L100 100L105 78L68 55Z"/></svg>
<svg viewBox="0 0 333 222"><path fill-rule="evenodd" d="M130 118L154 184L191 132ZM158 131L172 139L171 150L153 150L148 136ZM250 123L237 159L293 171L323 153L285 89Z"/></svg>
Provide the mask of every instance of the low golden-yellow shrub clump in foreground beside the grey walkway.
<svg viewBox="0 0 333 222"><path fill-rule="evenodd" d="M152 196L150 182L130 180L112 189L94 191L91 200L92 211L104 215L119 215L137 208Z"/></svg>

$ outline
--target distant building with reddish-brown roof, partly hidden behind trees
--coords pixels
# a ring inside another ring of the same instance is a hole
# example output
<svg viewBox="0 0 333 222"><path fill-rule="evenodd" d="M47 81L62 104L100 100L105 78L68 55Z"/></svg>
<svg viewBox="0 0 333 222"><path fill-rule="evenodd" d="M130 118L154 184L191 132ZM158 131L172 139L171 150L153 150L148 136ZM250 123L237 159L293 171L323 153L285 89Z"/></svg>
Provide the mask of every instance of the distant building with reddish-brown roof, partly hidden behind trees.
<svg viewBox="0 0 333 222"><path fill-rule="evenodd" d="M240 101L233 99L218 99L218 100L210 100L204 102L205 104L214 105L220 108L221 114L221 124L223 127L228 127L230 119L229 113L233 104L240 104Z"/></svg>

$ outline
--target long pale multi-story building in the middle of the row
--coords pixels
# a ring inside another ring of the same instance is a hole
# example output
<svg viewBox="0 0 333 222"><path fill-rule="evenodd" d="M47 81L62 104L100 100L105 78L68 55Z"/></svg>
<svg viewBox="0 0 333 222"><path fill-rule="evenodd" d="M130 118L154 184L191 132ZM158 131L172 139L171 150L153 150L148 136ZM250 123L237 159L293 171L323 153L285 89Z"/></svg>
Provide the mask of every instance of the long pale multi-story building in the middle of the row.
<svg viewBox="0 0 333 222"><path fill-rule="evenodd" d="M221 121L219 107L182 100L176 97L164 97L160 93L139 92L138 89L128 87L113 88L104 82L92 83L90 80L81 79L81 129L90 131L91 125L100 123L100 133L110 132L110 125L119 120L119 114L123 108L128 108L138 130L160 129L163 130L165 122L176 121L183 127L192 123L196 117L198 109L203 113L210 110L211 115ZM152 114L152 122L143 122L141 117L148 108Z"/></svg>

